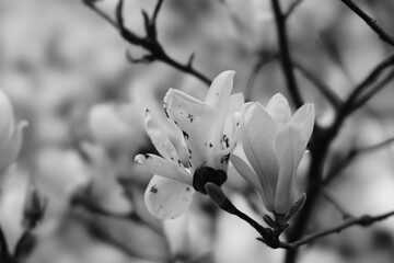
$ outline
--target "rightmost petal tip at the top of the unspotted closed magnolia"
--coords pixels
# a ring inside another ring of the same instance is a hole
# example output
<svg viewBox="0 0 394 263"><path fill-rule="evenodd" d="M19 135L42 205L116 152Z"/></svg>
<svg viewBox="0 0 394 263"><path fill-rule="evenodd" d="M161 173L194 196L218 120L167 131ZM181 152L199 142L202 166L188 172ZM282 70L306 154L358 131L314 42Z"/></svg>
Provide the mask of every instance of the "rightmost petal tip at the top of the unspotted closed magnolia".
<svg viewBox="0 0 394 263"><path fill-rule="evenodd" d="M305 140L309 141L315 121L314 105L305 103L294 113L291 121L301 125Z"/></svg>

